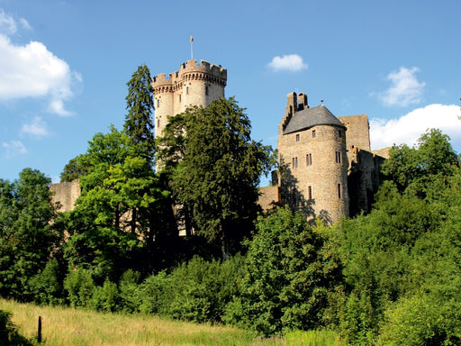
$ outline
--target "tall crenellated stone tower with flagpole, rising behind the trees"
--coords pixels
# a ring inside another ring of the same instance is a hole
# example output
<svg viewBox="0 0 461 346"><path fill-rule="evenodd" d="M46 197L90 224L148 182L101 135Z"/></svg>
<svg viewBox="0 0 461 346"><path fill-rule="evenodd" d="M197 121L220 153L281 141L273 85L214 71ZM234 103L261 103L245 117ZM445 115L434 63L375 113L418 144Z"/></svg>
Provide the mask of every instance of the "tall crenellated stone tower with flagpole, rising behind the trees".
<svg viewBox="0 0 461 346"><path fill-rule="evenodd" d="M206 107L212 101L224 97L227 69L201 60L188 60L169 77L161 73L152 78L155 105L155 136L167 125L167 116L174 116L187 107Z"/></svg>

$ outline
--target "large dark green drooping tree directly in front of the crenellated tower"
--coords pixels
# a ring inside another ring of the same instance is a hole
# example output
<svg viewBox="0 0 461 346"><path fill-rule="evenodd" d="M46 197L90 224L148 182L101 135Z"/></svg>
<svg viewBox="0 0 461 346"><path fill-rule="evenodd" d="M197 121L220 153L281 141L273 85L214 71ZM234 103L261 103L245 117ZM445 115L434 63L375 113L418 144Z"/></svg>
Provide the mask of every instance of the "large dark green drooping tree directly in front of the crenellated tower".
<svg viewBox="0 0 461 346"><path fill-rule="evenodd" d="M249 118L233 98L189 108L170 123L159 159L173 168L173 194L194 231L227 257L253 228L259 178L271 167L272 150L251 140Z"/></svg>

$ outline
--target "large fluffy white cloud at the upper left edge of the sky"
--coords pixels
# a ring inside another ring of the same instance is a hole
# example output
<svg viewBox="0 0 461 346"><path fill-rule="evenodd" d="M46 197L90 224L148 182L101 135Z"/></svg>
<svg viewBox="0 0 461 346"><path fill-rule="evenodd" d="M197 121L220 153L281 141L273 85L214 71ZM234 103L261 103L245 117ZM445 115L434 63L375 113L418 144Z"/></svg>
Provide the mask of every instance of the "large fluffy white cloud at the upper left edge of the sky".
<svg viewBox="0 0 461 346"><path fill-rule="evenodd" d="M30 29L24 19L16 21L0 10L0 101L46 97L51 113L70 114L64 101L73 96L72 88L81 82L81 77L41 42L15 45L11 36L18 24Z"/></svg>

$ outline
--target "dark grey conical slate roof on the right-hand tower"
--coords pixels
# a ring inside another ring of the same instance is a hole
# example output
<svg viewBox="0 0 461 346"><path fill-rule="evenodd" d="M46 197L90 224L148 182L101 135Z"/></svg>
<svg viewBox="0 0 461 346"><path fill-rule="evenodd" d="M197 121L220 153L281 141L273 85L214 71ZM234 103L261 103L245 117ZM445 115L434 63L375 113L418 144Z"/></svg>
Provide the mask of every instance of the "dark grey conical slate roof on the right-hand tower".
<svg viewBox="0 0 461 346"><path fill-rule="evenodd" d="M346 129L346 126L339 122L338 118L331 114L327 107L316 105L295 112L286 125L284 134L307 130L317 125L331 125Z"/></svg>

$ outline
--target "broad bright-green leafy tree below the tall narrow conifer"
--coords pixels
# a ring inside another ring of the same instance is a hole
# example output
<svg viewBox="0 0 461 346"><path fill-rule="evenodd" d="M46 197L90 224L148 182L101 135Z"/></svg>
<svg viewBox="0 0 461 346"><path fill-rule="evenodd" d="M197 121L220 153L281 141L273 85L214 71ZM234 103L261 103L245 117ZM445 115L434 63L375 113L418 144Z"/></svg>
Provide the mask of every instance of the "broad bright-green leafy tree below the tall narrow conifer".
<svg viewBox="0 0 461 346"><path fill-rule="evenodd" d="M66 255L72 264L93 269L99 280L107 275L118 279L125 269L140 266L136 256L155 239L140 210L155 209L164 192L138 153L130 138L112 127L109 133L96 133L78 158L91 168L80 178L82 194L68 213Z"/></svg>

